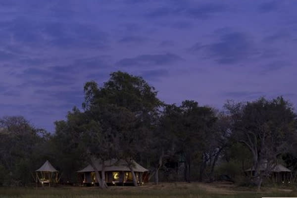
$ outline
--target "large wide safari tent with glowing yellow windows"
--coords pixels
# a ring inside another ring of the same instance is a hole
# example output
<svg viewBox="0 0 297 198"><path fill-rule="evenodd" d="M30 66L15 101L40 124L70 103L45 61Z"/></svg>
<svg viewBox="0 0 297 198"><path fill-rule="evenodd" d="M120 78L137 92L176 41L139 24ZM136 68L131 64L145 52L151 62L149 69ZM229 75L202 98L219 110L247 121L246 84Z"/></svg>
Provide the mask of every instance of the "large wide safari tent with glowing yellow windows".
<svg viewBox="0 0 297 198"><path fill-rule="evenodd" d="M144 168L137 162L134 162L134 172L138 184L143 184L148 181L148 169ZM99 160L95 162L96 168L101 175L102 164ZM106 160L104 161L105 182L107 185L114 186L129 186L133 185L132 174L124 160ZM95 177L95 171L91 165L77 171L79 180L83 185L91 186L98 185Z"/></svg>

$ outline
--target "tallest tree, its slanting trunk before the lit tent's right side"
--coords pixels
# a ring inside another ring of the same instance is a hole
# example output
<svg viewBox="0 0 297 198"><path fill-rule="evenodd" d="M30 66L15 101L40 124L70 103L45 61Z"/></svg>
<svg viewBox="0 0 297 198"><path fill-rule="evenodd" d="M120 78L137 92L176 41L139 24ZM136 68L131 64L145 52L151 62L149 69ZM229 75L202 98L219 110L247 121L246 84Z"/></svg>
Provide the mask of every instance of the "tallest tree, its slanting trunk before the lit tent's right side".
<svg viewBox="0 0 297 198"><path fill-rule="evenodd" d="M100 88L94 81L87 82L84 90L85 113L101 123L102 131L110 131L116 137L108 141L117 141L117 158L126 160L134 185L138 185L134 160L146 147L146 137L155 122L161 104L157 92L141 77L121 71L111 73Z"/></svg>

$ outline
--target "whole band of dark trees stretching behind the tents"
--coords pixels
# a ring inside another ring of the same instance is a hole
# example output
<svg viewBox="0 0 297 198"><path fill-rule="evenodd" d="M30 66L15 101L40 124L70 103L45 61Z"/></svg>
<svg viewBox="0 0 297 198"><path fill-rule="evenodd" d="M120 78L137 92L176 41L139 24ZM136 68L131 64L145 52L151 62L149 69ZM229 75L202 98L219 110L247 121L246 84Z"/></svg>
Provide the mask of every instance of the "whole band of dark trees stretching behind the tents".
<svg viewBox="0 0 297 198"><path fill-rule="evenodd" d="M273 164L297 166L297 116L282 97L249 102L228 101L224 111L185 100L165 104L138 76L110 74L99 87L84 86L82 110L73 107L55 133L37 129L23 117L0 120L0 184L27 185L46 159L62 173L62 182L77 182L76 171L95 159L133 161L161 181L215 181L227 175L261 186ZM260 171L263 163L268 164ZM255 174L245 175L253 166ZM104 175L104 174L102 174ZM135 175L132 174L135 185ZM96 172L101 188L104 178Z"/></svg>

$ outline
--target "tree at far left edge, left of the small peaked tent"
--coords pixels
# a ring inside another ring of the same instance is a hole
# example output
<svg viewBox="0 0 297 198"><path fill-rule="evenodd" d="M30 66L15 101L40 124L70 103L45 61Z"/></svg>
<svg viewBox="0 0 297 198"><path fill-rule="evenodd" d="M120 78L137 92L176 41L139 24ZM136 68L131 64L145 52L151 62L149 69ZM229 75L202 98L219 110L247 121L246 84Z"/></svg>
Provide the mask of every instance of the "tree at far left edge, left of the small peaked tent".
<svg viewBox="0 0 297 198"><path fill-rule="evenodd" d="M34 127L22 116L0 119L0 166L6 170L6 183L26 185L31 182L30 172L38 161L39 146L47 140L47 132Z"/></svg>

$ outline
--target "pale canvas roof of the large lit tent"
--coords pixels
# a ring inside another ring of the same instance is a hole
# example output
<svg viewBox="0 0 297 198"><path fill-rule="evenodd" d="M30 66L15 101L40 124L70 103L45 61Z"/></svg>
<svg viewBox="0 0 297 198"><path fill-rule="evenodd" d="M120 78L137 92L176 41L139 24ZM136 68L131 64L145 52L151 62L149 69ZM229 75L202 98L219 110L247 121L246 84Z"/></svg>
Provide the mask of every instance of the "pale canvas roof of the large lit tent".
<svg viewBox="0 0 297 198"><path fill-rule="evenodd" d="M140 164L136 163L135 161L133 161L133 162L135 164L135 167L134 167L135 172L148 171L148 169L144 168ZM98 171L102 170L102 165L100 163L100 160L95 161L95 166L97 167ZM127 166L127 162L122 159L120 159L120 160L117 160L117 159L106 160L106 161L104 161L104 166L105 166L104 171L130 171L129 167ZM92 168L91 165L88 165L84 169L77 171L77 172L78 173L94 172L94 169Z"/></svg>

